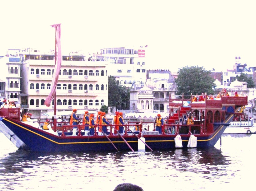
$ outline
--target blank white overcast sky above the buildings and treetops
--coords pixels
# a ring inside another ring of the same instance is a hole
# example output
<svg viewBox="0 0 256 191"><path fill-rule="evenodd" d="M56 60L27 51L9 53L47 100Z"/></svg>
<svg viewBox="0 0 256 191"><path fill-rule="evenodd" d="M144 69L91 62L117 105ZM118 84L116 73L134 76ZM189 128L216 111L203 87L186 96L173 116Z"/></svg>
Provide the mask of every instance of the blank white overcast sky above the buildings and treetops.
<svg viewBox="0 0 256 191"><path fill-rule="evenodd" d="M63 51L145 46L149 69L233 69L235 57L256 66L256 2L237 0L1 1L0 55L8 48Z"/></svg>

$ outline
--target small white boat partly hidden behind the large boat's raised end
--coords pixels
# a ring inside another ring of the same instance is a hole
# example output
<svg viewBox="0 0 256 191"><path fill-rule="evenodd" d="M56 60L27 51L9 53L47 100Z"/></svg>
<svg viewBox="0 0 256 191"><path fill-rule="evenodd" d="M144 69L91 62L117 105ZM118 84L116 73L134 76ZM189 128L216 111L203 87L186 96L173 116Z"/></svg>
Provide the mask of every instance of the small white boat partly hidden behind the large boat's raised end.
<svg viewBox="0 0 256 191"><path fill-rule="evenodd" d="M245 108L247 108L246 114L243 112ZM252 114L249 114L249 110L251 110L251 105L241 107L240 111L237 114L235 114L229 126L225 129L223 133L255 134L256 123L254 123L254 119L252 117L248 117L253 116Z"/></svg>

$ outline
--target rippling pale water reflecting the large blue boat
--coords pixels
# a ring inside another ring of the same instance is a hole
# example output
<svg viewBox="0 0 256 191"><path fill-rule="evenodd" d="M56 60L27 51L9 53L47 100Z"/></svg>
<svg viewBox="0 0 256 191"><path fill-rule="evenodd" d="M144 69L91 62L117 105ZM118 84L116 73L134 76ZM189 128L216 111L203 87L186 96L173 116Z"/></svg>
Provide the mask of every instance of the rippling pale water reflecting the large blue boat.
<svg viewBox="0 0 256 191"><path fill-rule="evenodd" d="M256 135L228 134L210 149L35 153L0 133L0 190L254 190Z"/></svg>

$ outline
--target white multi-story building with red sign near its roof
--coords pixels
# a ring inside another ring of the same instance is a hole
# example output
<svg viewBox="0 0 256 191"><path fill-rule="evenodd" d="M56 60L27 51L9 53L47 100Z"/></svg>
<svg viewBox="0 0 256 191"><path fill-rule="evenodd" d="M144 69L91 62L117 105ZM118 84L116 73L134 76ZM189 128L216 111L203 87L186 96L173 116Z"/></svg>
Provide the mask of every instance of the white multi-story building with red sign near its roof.
<svg viewBox="0 0 256 191"><path fill-rule="evenodd" d="M93 54L90 59L107 61L108 75L116 77L117 81L125 87L132 85L143 87L146 82L147 46L138 48L104 48L100 54Z"/></svg>

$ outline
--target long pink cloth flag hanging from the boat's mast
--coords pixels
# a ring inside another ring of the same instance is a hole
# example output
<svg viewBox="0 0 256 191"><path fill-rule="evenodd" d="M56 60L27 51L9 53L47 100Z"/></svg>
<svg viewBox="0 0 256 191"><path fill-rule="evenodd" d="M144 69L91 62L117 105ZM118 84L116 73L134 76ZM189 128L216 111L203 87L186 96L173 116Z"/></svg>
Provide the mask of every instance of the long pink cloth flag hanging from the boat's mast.
<svg viewBox="0 0 256 191"><path fill-rule="evenodd" d="M55 96L55 91L56 91L56 87L59 79L60 67L62 63L62 53L61 53L61 46L60 46L61 24L55 24L55 25L52 25L52 27L55 28L55 58L54 58L55 68L53 72L52 90L49 96L44 101L44 105L46 105L47 107L51 105L51 101Z"/></svg>

